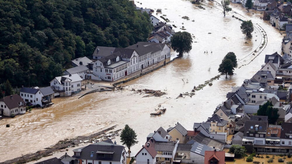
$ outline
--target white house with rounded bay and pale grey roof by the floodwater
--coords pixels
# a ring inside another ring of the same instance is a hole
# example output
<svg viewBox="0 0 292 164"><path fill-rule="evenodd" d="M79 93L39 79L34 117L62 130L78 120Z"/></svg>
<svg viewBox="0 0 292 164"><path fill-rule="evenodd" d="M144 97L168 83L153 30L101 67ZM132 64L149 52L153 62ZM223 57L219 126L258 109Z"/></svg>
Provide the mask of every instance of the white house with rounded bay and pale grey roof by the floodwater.
<svg viewBox="0 0 292 164"><path fill-rule="evenodd" d="M78 74L69 74L65 76L55 77L50 86L55 90L62 91L61 96L70 96L72 93L80 92L82 78Z"/></svg>

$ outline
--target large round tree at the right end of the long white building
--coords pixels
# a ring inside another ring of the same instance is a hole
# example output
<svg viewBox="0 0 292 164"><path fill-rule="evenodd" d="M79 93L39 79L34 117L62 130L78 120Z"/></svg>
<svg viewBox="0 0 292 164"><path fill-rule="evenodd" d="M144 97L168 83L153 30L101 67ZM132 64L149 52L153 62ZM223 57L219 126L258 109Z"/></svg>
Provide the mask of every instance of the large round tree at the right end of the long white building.
<svg viewBox="0 0 292 164"><path fill-rule="evenodd" d="M171 37L171 48L175 50L178 55L183 55L183 53L189 53L192 50L192 36L188 32L176 32Z"/></svg>

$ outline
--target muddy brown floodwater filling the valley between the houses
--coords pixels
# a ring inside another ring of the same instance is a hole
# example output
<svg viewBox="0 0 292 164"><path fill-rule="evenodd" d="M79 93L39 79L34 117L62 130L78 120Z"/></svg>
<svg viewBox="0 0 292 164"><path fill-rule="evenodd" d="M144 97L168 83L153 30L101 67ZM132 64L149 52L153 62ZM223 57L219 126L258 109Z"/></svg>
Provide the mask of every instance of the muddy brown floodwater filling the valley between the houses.
<svg viewBox="0 0 292 164"><path fill-rule="evenodd" d="M167 129L180 122L186 129L192 130L194 122L206 121L213 114L215 107L226 99L226 93L232 86L241 85L244 79L251 78L261 68L265 54L281 51L282 36L279 31L269 22L259 19L262 14L254 11L247 13L236 4L232 4L233 11L224 18L222 11L217 8L202 4L206 8L202 10L185 0L139 0L139 2L142 3L142 5L136 3L139 7L157 9L159 6L162 13L157 17L165 14L166 18L173 21L170 24L178 27L174 28L176 32L184 26L187 32L196 37L193 41L197 43L192 44L193 48L189 54L185 54L166 67L125 84L135 89L167 90L168 94L142 98L143 95L123 90L93 93L81 99L55 98L52 107L35 109L32 113L8 119L7 122L1 121L0 161L33 153L59 140L88 135L114 124L118 125L117 129L128 124L137 133L139 143L131 148L131 156L134 156L146 142L146 136L160 126ZM214 2L207 1L207 3L217 6ZM175 99L180 93L190 92L193 86L198 86L218 75L218 66L228 52L234 52L238 59L245 57L244 60L239 61L239 65L247 64L254 57L248 54L261 44L260 31L255 28L253 38L246 44L244 34L240 30L240 21L232 18L232 15L243 20L250 19L256 27L258 25L263 27L268 38L263 53L250 64L235 69L235 75L228 76L227 79L221 76L219 80L213 81L213 86L204 87L192 98ZM188 16L190 20L182 19L183 16ZM208 53L204 53L206 50ZM172 53L172 55L176 54ZM208 71L209 67L211 67L210 71ZM182 79L188 80L188 83L183 84ZM160 103L163 103L162 106L167 109L166 113L159 117L150 117L150 113ZM10 123L10 128L5 127L7 123ZM120 144L120 139L116 140Z"/></svg>

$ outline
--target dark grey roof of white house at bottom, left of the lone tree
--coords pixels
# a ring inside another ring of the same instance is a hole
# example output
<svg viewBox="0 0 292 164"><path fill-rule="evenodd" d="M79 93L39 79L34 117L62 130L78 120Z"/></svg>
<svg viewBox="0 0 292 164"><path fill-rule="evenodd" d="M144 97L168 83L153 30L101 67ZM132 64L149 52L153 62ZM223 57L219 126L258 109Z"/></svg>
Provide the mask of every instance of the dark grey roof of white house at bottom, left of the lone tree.
<svg viewBox="0 0 292 164"><path fill-rule="evenodd" d="M75 156L78 159L120 161L122 152L124 150L124 146L107 143L107 142L97 142L95 144L90 144L86 147L79 148L79 149L81 149L80 156ZM74 149L73 151L79 151L79 149ZM90 157L92 151L94 152L93 157ZM108 158L97 157L97 153L96 153L97 151L111 151L114 153L112 154L112 158L108 159Z"/></svg>

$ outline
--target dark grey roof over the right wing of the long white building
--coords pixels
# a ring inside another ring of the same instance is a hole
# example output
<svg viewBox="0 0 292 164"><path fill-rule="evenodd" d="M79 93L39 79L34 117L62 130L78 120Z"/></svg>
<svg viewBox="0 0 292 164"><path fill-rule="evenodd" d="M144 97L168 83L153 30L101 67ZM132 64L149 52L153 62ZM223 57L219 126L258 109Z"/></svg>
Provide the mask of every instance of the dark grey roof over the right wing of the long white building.
<svg viewBox="0 0 292 164"><path fill-rule="evenodd" d="M138 47L137 47L138 45ZM149 42L138 42L127 48L134 49L137 51L139 56L145 55L147 53L153 53L163 50L165 43L149 43Z"/></svg>

